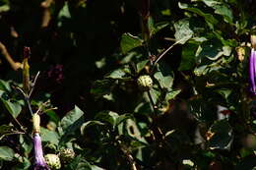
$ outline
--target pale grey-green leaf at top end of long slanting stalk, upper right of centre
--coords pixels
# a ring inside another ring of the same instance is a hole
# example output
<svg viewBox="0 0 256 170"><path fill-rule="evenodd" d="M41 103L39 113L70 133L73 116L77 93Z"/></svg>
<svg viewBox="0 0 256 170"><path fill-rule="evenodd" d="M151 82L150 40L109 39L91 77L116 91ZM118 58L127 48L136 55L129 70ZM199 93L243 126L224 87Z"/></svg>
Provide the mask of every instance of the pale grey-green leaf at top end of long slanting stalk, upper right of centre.
<svg viewBox="0 0 256 170"><path fill-rule="evenodd" d="M179 43L184 44L188 39L193 36L193 30L189 27L189 20L182 19L174 24L175 28L175 39Z"/></svg>

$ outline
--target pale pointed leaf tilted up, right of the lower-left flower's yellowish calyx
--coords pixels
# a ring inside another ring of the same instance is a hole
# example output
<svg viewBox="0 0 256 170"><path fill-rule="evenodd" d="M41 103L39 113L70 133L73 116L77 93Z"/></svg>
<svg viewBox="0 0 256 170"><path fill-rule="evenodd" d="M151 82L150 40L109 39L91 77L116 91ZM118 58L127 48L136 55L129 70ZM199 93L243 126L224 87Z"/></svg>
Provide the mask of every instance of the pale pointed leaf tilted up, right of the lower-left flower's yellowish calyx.
<svg viewBox="0 0 256 170"><path fill-rule="evenodd" d="M66 116L64 116L60 121L60 125L63 131L66 131L70 126L72 126L76 121L78 121L83 115L84 115L84 112L80 110L78 106L75 105L75 108L69 111L66 114Z"/></svg>

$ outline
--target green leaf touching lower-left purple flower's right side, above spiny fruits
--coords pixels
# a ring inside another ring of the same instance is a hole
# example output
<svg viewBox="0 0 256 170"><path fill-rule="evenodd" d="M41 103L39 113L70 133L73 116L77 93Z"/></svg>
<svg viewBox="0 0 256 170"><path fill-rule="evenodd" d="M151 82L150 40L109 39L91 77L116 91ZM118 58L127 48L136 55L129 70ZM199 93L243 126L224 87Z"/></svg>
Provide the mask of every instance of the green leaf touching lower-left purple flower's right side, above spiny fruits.
<svg viewBox="0 0 256 170"><path fill-rule="evenodd" d="M42 127L40 128L40 131L42 142L51 142L54 143L55 145L58 145L60 137L56 132L47 130Z"/></svg>

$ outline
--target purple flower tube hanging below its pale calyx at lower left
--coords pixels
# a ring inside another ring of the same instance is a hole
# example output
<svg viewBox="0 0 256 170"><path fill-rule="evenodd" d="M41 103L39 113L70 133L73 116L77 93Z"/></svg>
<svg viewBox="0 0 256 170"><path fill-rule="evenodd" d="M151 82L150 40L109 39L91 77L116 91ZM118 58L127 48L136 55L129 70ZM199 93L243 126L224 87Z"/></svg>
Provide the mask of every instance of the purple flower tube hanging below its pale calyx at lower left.
<svg viewBox="0 0 256 170"><path fill-rule="evenodd" d="M41 138L38 133L33 135L34 168L33 170L50 170L47 166L42 152Z"/></svg>

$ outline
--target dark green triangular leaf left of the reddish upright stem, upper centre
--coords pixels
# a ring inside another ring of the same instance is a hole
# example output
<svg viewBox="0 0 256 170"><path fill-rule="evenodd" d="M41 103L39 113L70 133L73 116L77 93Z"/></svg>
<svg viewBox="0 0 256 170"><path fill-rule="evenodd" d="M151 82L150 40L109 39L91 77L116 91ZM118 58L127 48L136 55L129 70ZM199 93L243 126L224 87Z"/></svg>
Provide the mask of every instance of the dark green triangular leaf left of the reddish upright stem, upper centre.
<svg viewBox="0 0 256 170"><path fill-rule="evenodd" d="M121 50L126 54L128 51L141 46L142 43L143 40L138 36L133 36L130 33L124 33L121 38Z"/></svg>

